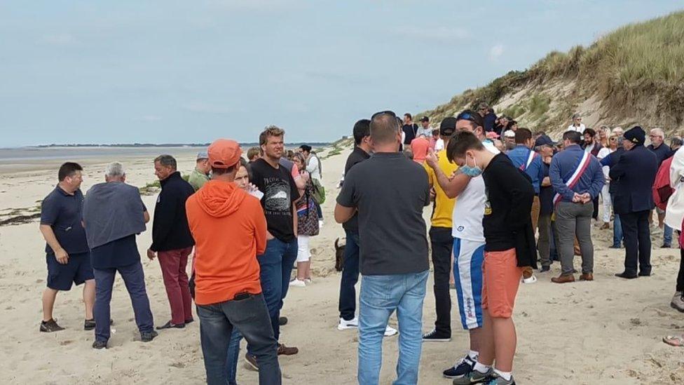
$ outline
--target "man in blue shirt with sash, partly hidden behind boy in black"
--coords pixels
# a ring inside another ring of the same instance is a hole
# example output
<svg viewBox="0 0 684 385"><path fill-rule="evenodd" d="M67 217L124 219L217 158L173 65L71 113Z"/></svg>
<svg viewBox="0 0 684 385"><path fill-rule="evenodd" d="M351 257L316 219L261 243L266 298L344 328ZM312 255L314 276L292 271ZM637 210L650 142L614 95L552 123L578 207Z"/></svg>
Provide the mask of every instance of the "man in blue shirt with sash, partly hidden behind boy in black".
<svg viewBox="0 0 684 385"><path fill-rule="evenodd" d="M532 187L535 191L534 201L532 203L532 228L537 228L537 220L539 219L539 189L541 180L544 179L542 170L542 157L539 156L532 148L534 147L534 140L532 138L532 131L527 128L518 128L515 131L515 148L508 151L507 155L513 162L513 166L519 170L524 171L532 180ZM535 283L537 280L532 274L532 268L526 266L523 270L523 282Z"/></svg>

